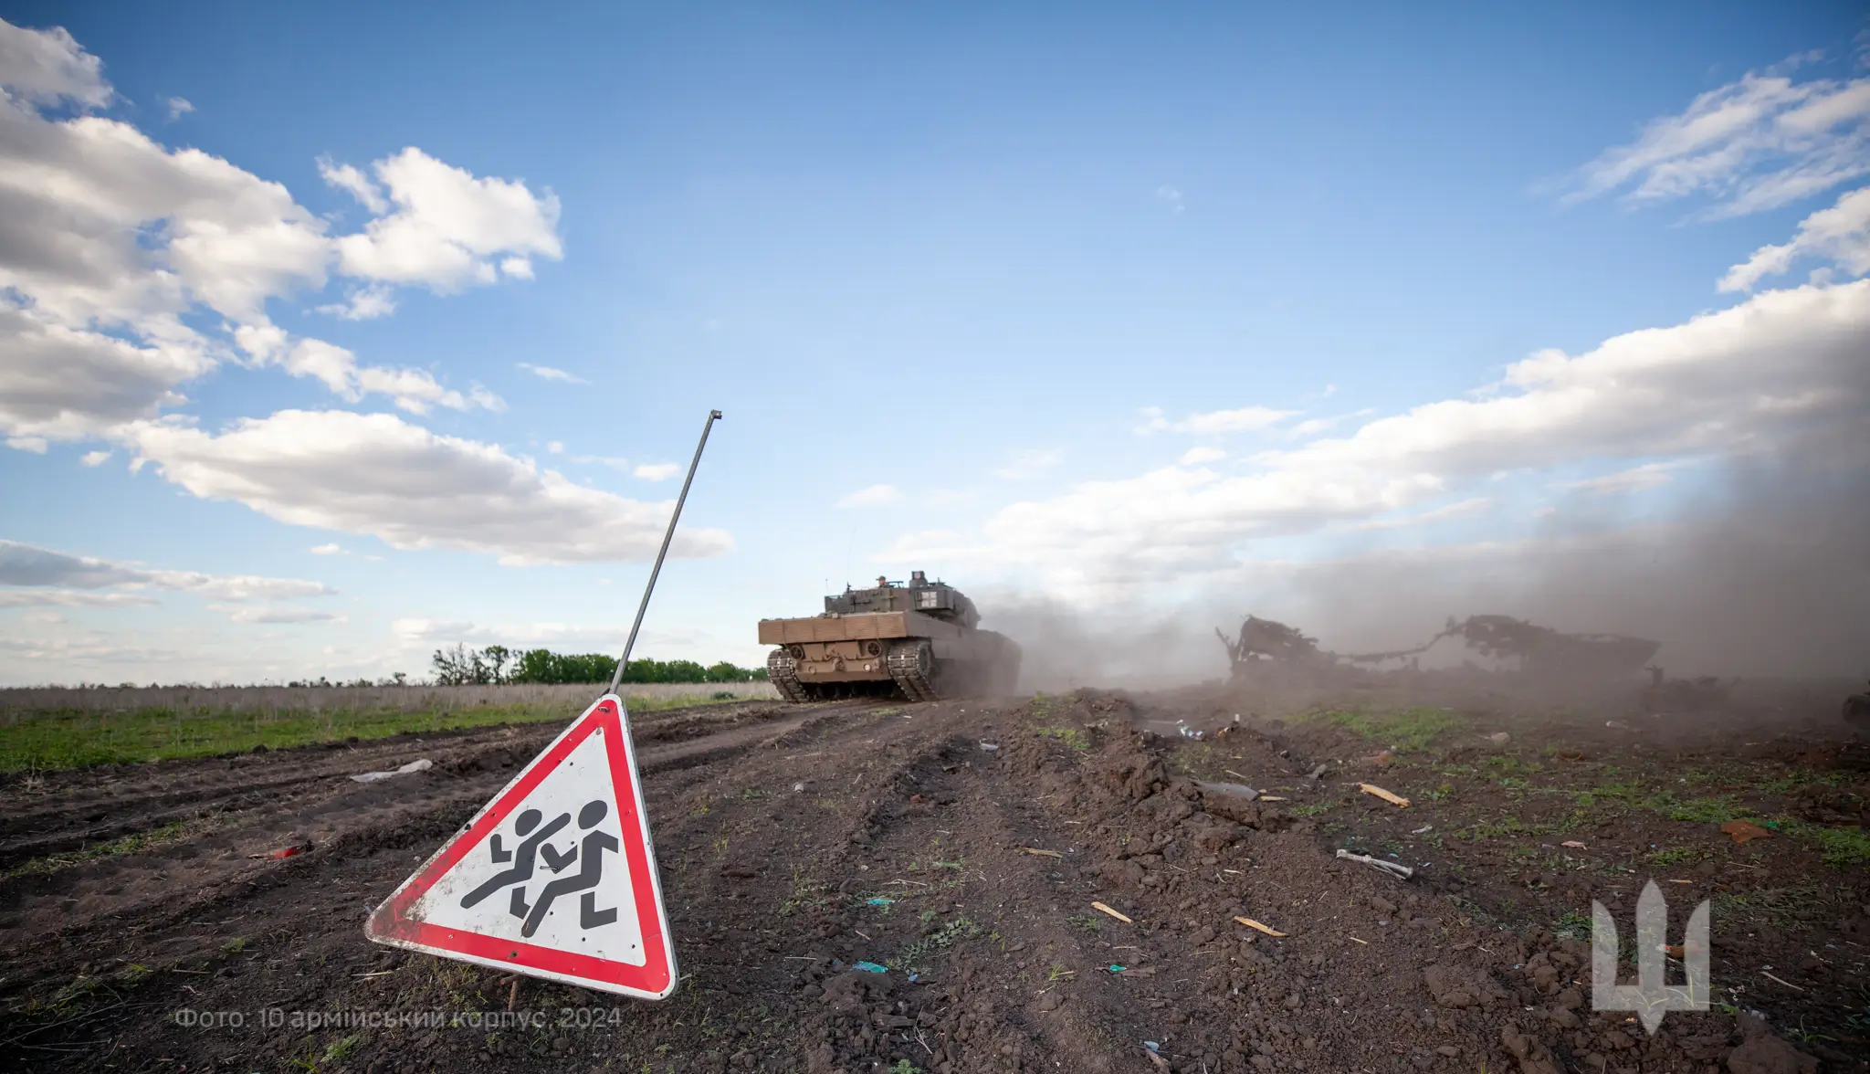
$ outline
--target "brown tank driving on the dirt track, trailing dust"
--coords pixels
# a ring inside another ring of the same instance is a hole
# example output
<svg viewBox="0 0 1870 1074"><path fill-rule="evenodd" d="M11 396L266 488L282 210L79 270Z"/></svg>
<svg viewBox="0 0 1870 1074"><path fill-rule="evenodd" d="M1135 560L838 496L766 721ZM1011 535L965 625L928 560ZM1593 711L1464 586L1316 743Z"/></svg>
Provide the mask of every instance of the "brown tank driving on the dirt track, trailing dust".
<svg viewBox="0 0 1870 1074"><path fill-rule="evenodd" d="M907 586L845 586L825 597L823 616L761 619L759 644L778 646L767 677L787 702L1008 694L1019 681L1019 646L978 623L959 589L914 571Z"/></svg>

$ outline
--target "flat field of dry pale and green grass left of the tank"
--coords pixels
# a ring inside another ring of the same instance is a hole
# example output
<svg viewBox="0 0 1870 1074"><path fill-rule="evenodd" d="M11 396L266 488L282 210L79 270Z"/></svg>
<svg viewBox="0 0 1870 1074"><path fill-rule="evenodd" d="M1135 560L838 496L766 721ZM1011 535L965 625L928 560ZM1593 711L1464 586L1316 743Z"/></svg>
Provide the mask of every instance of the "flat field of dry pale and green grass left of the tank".
<svg viewBox="0 0 1870 1074"><path fill-rule="evenodd" d="M0 773L159 762L568 720L602 687L97 687L0 690ZM625 685L638 711L776 696L769 683Z"/></svg>

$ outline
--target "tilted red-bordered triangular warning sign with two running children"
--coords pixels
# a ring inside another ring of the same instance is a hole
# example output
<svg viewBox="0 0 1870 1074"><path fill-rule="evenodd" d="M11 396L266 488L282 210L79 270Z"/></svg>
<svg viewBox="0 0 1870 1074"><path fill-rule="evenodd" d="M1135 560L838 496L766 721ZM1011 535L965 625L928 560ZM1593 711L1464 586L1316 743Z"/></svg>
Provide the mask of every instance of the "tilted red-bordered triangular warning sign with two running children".
<svg viewBox="0 0 1870 1074"><path fill-rule="evenodd" d="M604 694L383 906L365 936L662 999L675 945L623 700Z"/></svg>

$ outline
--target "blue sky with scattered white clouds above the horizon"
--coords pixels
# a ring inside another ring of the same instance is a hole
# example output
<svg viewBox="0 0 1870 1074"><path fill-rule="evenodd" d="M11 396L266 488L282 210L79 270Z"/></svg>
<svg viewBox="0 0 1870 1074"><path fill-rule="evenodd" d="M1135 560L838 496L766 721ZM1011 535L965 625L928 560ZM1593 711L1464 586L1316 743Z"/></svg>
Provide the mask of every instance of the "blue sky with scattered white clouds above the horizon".
<svg viewBox="0 0 1870 1074"><path fill-rule="evenodd" d="M0 683L619 647L709 408L643 655L918 567L1245 608L1870 442L1855 4L0 19Z"/></svg>

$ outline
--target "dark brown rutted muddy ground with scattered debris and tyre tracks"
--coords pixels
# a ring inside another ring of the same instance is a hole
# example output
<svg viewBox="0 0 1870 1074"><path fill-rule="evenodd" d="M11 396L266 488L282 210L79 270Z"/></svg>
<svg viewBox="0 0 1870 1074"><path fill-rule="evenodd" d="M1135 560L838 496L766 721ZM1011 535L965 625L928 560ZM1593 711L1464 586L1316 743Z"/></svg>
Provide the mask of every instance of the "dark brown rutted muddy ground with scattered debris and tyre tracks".
<svg viewBox="0 0 1870 1074"><path fill-rule="evenodd" d="M660 1005L363 939L557 726L9 776L0 1055L370 1074L1870 1070L1870 750L1838 698L1649 715L1634 690L1565 707L1315 694L638 718L684 975ZM346 778L417 758L436 767ZM1720 823L1739 816L1769 835L1735 842ZM1713 911L1713 1009L1655 1037L1593 1012L1588 984L1591 900L1629 958L1651 878L1672 928Z"/></svg>

